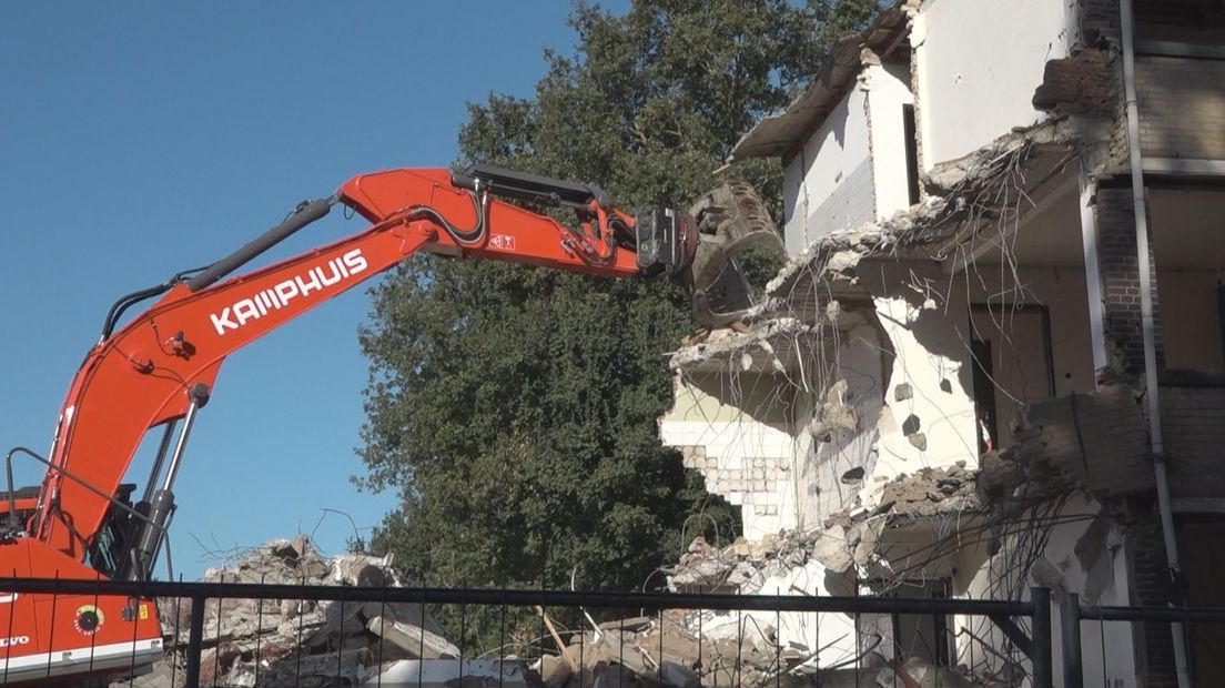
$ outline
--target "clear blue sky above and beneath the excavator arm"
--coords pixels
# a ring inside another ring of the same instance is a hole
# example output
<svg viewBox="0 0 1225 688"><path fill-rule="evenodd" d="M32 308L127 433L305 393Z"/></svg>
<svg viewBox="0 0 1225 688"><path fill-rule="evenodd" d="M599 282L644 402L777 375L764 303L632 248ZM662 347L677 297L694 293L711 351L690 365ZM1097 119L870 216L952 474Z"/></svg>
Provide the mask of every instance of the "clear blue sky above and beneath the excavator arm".
<svg viewBox="0 0 1225 688"><path fill-rule="evenodd" d="M568 10L0 4L4 449L48 449L116 297L224 256L352 175L450 164L468 102L530 95L544 48L572 49ZM360 229L333 213L261 262ZM363 473L369 306L355 289L228 359L176 485L180 573L299 530L339 552L353 526L323 509L369 535L393 507L349 484ZM18 463L20 485L40 477Z"/></svg>

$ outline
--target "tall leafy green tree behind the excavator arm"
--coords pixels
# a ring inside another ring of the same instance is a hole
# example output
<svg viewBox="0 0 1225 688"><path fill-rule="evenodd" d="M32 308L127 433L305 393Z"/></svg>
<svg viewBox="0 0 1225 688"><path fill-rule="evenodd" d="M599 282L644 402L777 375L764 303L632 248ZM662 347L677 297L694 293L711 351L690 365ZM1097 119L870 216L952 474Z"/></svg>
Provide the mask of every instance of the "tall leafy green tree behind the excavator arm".
<svg viewBox="0 0 1225 688"><path fill-rule="evenodd" d="M576 53L546 53L532 98L470 104L461 164L593 181L626 208L684 208L816 71L823 27L875 9L840 5L638 0L617 16L577 2ZM777 164L737 173L777 198ZM414 579L554 586L577 570L579 586L631 589L686 537L734 528L659 443L664 354L692 329L677 288L418 257L374 295L360 334L365 482L402 493L374 547Z"/></svg>

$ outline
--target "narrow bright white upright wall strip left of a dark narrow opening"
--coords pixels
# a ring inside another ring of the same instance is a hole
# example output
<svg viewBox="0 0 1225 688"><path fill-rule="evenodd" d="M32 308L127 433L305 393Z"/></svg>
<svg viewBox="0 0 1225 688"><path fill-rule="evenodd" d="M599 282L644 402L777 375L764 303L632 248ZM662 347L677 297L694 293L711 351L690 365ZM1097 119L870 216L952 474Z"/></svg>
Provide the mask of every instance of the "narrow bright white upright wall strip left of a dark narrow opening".
<svg viewBox="0 0 1225 688"><path fill-rule="evenodd" d="M893 217L910 207L907 181L907 141L903 105L910 94L910 65L889 62L865 70L867 109L872 135L872 180L876 218Z"/></svg>

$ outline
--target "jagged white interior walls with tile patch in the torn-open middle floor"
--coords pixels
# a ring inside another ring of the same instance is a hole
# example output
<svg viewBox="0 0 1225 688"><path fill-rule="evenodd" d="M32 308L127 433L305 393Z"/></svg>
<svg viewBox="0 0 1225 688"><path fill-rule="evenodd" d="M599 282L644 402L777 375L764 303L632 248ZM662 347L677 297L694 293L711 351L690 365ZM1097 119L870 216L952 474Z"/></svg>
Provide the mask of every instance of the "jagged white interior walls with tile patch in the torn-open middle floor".
<svg viewBox="0 0 1225 688"><path fill-rule="evenodd" d="M969 354L962 340L967 308L964 302L942 310L891 295L909 269L882 269L882 295L873 299L878 324L851 312L839 321L829 381L846 381L854 430L813 436L810 425L820 408L771 397L769 391L794 393L795 375L677 380L676 403L660 421L662 439L688 448L686 465L702 471L707 488L741 506L745 537L817 528L831 513L876 506L884 485L902 474L958 462L978 465ZM816 370L818 361L806 365ZM898 393L903 384L909 394ZM818 397L824 402L826 392ZM924 442L905 432L910 416ZM844 482L856 468L864 469L864 480Z"/></svg>

